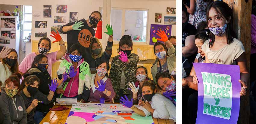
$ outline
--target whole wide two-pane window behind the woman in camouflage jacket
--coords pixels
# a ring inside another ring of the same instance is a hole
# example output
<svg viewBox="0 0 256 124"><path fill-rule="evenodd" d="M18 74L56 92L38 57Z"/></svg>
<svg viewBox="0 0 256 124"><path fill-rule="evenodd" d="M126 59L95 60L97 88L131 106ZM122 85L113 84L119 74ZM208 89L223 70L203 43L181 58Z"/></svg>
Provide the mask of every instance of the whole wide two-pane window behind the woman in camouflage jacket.
<svg viewBox="0 0 256 124"><path fill-rule="evenodd" d="M111 8L114 41L119 41L123 35L130 35L134 42L146 43L147 18L146 9Z"/></svg>

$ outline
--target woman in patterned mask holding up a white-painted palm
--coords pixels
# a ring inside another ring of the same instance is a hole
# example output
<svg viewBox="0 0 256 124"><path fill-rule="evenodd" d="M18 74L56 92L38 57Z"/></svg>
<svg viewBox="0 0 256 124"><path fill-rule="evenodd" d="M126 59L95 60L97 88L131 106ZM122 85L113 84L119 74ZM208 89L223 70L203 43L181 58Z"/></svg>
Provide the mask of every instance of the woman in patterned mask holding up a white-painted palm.
<svg viewBox="0 0 256 124"><path fill-rule="evenodd" d="M137 80L135 81L135 83L129 82L130 88L128 89L132 91L131 95L133 96L133 103L143 105L144 101L141 100L141 97L142 97L141 86L147 80L150 80L152 82L154 81L148 77L147 68L145 68L144 66L139 66L138 68L136 68L135 75Z"/></svg>

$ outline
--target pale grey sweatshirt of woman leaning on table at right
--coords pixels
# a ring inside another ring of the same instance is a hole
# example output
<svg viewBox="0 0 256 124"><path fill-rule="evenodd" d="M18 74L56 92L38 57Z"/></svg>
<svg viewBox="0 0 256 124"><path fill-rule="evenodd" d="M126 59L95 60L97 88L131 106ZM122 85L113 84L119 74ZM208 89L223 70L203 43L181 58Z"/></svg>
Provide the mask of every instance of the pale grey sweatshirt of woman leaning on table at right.
<svg viewBox="0 0 256 124"><path fill-rule="evenodd" d="M151 107L155 109L153 113L154 118L159 119L173 119L176 122L176 107L170 101L170 99L164 97L160 94L155 94L151 100ZM150 115L150 112L144 107L141 110L145 113L146 116Z"/></svg>

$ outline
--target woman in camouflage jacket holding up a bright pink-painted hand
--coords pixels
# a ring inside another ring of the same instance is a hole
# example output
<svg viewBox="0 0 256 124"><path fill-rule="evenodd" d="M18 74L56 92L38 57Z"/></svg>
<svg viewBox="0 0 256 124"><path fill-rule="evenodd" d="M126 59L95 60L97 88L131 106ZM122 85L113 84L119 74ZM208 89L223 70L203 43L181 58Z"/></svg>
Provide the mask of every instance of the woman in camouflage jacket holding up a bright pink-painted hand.
<svg viewBox="0 0 256 124"><path fill-rule="evenodd" d="M118 56L113 58L109 78L116 93L115 102L119 102L121 96L128 95L130 97L129 82L135 82L136 77L134 71L139 62L139 56L131 53L133 41L131 36L123 35L119 41L117 49Z"/></svg>

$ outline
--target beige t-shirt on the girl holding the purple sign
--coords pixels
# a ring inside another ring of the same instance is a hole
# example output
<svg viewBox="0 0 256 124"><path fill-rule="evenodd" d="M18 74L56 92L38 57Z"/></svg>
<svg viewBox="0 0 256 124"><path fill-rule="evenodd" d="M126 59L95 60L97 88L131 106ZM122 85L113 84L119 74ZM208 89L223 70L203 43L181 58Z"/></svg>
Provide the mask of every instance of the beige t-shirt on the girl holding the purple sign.
<svg viewBox="0 0 256 124"><path fill-rule="evenodd" d="M209 59L210 63L236 65L236 59L245 52L245 48L241 41L236 38L233 42L226 44L225 47L220 50L211 50L209 47L210 39L205 41L202 45L202 50Z"/></svg>

